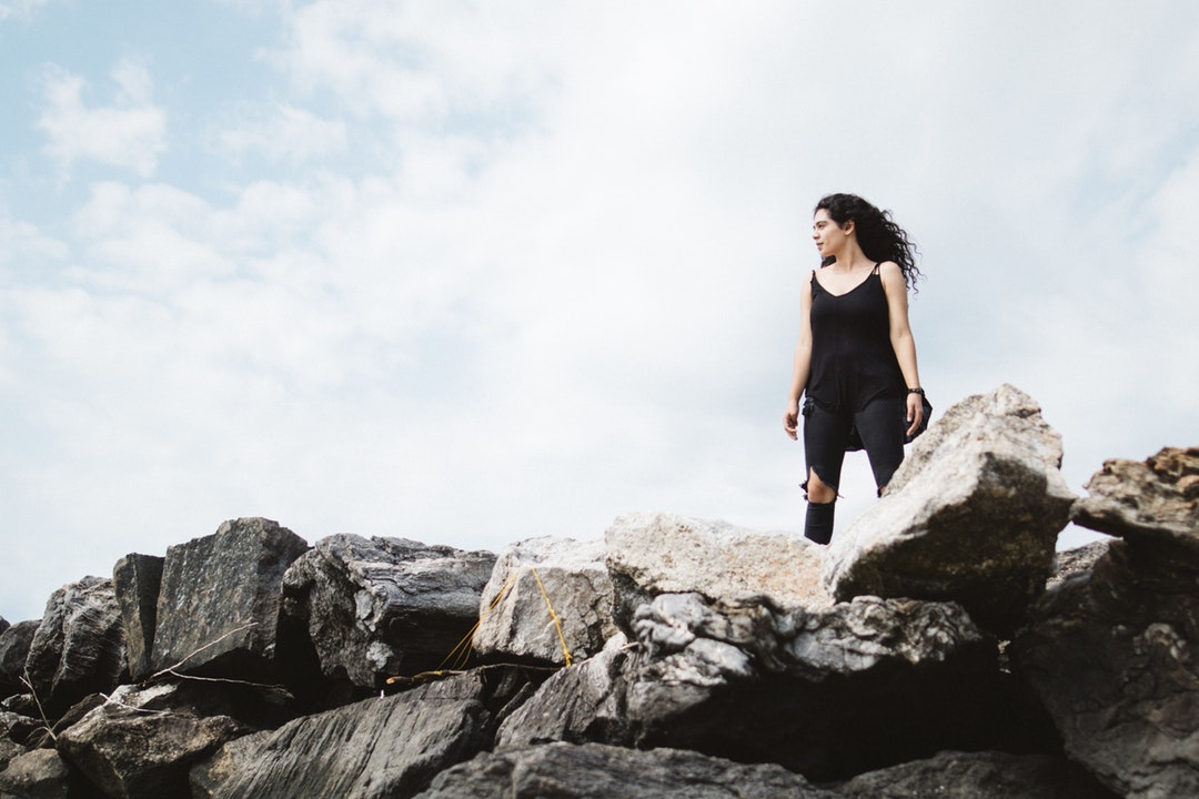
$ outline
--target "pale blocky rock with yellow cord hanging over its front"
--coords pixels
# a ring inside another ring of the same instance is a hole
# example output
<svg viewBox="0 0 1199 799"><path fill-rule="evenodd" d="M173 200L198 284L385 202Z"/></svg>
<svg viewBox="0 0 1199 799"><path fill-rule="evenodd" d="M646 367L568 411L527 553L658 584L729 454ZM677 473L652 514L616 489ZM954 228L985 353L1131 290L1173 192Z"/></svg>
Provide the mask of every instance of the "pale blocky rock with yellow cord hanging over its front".
<svg viewBox="0 0 1199 799"><path fill-rule="evenodd" d="M500 556L483 588L475 652L560 665L568 665L568 652L583 660L615 635L613 601L603 541L520 541Z"/></svg>

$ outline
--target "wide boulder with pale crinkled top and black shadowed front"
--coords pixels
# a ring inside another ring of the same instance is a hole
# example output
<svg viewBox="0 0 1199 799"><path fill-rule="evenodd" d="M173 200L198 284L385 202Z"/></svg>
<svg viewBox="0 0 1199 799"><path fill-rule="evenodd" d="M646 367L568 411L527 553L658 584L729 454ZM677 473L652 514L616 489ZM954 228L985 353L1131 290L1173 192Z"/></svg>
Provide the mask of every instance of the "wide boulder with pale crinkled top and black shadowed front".
<svg viewBox="0 0 1199 799"><path fill-rule="evenodd" d="M663 594L638 612L628 695L640 747L836 779L998 734L995 642L952 604L821 611Z"/></svg>

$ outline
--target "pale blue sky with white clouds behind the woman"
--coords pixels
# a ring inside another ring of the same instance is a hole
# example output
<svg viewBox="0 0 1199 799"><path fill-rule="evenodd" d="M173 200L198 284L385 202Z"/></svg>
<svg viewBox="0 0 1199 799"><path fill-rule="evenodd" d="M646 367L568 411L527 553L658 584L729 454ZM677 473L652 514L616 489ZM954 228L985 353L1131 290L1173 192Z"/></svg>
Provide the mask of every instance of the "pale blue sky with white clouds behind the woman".
<svg viewBox="0 0 1199 799"><path fill-rule="evenodd" d="M0 0L0 615L237 516L799 533L835 190L938 412L1018 386L1079 492L1199 443L1197 74L1189 0Z"/></svg>

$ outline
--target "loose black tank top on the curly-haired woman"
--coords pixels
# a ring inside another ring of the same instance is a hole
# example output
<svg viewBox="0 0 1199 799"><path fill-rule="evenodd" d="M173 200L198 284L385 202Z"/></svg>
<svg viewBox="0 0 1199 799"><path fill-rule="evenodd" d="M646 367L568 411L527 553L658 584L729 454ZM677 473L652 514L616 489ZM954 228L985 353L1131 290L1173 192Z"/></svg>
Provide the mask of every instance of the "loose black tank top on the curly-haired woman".
<svg viewBox="0 0 1199 799"><path fill-rule="evenodd" d="M818 405L856 413L880 397L906 389L891 346L887 295L878 265L843 295L825 291L812 273L812 368L807 395Z"/></svg>

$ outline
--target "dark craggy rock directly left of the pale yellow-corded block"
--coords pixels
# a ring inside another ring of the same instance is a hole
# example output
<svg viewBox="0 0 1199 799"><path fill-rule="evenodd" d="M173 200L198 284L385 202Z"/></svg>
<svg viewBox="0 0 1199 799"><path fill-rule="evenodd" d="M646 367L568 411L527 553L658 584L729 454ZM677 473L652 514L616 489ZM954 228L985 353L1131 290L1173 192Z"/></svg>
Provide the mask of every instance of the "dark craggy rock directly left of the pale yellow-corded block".
<svg viewBox="0 0 1199 799"><path fill-rule="evenodd" d="M312 652L325 679L369 691L444 668L478 622L494 565L490 552L402 538L321 539L283 583L289 635L303 638L289 646Z"/></svg>

